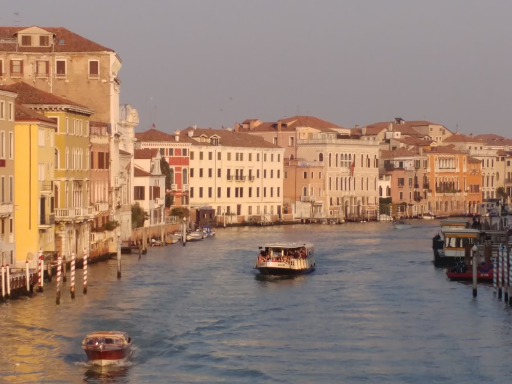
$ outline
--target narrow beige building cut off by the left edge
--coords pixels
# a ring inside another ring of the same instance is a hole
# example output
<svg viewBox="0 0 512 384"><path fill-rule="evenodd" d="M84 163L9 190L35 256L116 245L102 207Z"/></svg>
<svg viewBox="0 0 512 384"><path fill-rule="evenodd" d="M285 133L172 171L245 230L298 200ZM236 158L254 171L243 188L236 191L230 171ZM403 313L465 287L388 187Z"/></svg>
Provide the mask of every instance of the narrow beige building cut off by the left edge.
<svg viewBox="0 0 512 384"><path fill-rule="evenodd" d="M1 73L1 71L0 71ZM16 92L0 86L0 252L2 264L15 264L14 101Z"/></svg>

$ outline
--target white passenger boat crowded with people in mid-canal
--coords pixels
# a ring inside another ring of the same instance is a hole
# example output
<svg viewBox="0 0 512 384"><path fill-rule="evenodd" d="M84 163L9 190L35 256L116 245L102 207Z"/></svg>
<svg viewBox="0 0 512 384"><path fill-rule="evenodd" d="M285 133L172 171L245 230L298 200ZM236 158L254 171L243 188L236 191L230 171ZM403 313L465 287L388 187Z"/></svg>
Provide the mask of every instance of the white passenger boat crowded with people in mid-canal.
<svg viewBox="0 0 512 384"><path fill-rule="evenodd" d="M264 275L294 275L315 270L312 243L268 243L260 246L254 268Z"/></svg>

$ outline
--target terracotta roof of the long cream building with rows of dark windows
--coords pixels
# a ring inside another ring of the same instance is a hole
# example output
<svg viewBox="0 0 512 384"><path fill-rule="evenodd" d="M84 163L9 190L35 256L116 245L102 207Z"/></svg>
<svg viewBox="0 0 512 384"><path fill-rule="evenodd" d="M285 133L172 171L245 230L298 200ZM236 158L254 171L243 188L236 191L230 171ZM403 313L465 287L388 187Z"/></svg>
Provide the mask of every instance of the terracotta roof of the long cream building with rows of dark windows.
<svg viewBox="0 0 512 384"><path fill-rule="evenodd" d="M180 140L181 137L188 137L188 132L192 131L194 136L191 137L193 144L192 145L211 145L207 141L200 141L201 136L219 137L218 146L238 146L238 147L250 147L250 148L281 148L279 145L272 144L268 141L265 141L263 137L257 135L250 135L244 132L234 132L227 130L214 130L211 128L196 128L188 127L180 132Z"/></svg>

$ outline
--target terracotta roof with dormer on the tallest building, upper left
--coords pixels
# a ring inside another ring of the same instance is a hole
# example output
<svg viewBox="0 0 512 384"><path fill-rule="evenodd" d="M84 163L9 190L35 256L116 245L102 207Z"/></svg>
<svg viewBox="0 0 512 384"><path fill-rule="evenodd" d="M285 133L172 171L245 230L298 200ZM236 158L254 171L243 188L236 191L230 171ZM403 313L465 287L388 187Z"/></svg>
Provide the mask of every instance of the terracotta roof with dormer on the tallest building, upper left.
<svg viewBox="0 0 512 384"><path fill-rule="evenodd" d="M35 27L35 26L33 26ZM16 33L31 27L0 27L0 38L16 37ZM38 27L55 37L55 44L49 47L22 47L9 42L0 42L3 52L114 52L94 41L82 37L63 27Z"/></svg>

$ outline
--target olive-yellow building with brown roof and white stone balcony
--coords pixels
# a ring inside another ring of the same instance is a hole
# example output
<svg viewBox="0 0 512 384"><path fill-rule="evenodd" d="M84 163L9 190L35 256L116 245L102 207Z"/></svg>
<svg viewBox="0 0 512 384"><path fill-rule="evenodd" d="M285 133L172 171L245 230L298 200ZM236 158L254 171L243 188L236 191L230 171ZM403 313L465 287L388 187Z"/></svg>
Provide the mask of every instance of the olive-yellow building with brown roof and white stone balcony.
<svg viewBox="0 0 512 384"><path fill-rule="evenodd" d="M24 82L5 87L17 101L56 122L54 143L55 251L81 258L90 248L95 211L90 197L89 118L86 106L43 92ZM27 155L27 153L25 152Z"/></svg>

